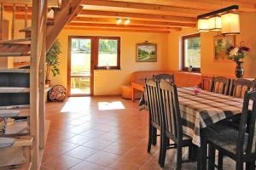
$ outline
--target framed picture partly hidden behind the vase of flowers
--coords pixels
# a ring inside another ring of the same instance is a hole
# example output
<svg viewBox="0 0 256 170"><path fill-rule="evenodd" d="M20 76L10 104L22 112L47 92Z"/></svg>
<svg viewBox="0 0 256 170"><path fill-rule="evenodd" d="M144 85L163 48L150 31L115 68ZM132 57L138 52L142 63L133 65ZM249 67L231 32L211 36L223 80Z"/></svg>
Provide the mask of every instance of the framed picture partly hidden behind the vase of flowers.
<svg viewBox="0 0 256 170"><path fill-rule="evenodd" d="M226 54L227 48L235 46L235 36L216 36L214 37L214 60L224 61L229 60L229 55Z"/></svg>

